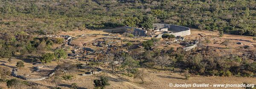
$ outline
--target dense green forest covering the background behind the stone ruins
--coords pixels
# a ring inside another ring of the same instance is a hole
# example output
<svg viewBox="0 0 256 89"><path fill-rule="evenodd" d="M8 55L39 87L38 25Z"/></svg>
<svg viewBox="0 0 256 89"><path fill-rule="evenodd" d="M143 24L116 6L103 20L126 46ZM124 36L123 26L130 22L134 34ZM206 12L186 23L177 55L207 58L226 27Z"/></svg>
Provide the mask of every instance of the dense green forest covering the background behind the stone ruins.
<svg viewBox="0 0 256 89"><path fill-rule="evenodd" d="M256 36L255 0L1 0L0 13L1 33L140 26L149 17L154 23Z"/></svg>

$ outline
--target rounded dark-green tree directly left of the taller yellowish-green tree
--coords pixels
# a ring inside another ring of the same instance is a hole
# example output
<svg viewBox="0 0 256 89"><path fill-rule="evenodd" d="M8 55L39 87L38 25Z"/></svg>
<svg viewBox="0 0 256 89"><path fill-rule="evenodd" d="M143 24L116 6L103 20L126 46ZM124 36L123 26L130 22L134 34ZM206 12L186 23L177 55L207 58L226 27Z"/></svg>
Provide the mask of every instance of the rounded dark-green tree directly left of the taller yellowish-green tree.
<svg viewBox="0 0 256 89"><path fill-rule="evenodd" d="M48 63L51 62L54 59L54 53L44 53L41 58L40 61L42 63Z"/></svg>

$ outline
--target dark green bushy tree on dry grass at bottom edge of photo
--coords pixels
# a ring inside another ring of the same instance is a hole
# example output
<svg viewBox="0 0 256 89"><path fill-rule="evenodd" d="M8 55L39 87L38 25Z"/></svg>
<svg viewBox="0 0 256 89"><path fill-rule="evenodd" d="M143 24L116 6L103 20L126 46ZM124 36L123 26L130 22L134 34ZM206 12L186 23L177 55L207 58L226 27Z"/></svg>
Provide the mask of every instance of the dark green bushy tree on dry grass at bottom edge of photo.
<svg viewBox="0 0 256 89"><path fill-rule="evenodd" d="M93 82L96 89L104 89L105 86L110 85L110 83L108 83L108 78L105 76L101 76L100 79L96 79Z"/></svg>

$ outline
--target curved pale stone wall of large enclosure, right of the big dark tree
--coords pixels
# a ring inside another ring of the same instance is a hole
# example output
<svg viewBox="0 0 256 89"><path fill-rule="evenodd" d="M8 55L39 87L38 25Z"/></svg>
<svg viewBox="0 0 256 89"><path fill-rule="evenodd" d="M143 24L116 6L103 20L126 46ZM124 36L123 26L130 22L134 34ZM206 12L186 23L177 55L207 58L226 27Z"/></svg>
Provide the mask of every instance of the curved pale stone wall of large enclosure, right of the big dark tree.
<svg viewBox="0 0 256 89"><path fill-rule="evenodd" d="M173 34L174 36L188 36L190 35L190 28L180 26L180 25L170 25L170 24L160 24L156 23L153 24L154 27L157 28L168 28L168 31L175 31L174 33L169 33ZM157 36L157 38L161 38L164 33L161 33Z"/></svg>

